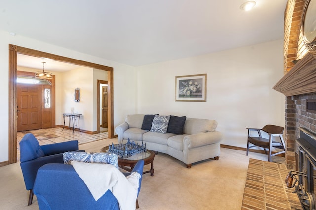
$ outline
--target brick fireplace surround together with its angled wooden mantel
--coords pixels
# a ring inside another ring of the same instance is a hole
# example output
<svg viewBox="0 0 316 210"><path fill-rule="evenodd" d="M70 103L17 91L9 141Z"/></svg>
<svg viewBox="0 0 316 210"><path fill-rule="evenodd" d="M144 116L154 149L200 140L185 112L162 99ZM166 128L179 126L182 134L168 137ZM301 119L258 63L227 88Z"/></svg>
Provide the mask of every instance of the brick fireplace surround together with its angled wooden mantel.
<svg viewBox="0 0 316 210"><path fill-rule="evenodd" d="M307 100L316 99L316 51L308 52L274 87L286 96L286 166L295 169L295 139L299 128L316 132L316 113L306 110Z"/></svg>

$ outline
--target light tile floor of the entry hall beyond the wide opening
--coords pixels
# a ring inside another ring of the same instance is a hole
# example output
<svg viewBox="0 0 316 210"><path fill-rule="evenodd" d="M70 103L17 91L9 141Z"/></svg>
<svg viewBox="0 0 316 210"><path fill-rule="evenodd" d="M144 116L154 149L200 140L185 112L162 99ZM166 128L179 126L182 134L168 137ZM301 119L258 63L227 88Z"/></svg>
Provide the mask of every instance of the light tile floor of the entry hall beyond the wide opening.
<svg viewBox="0 0 316 210"><path fill-rule="evenodd" d="M108 132L101 132L98 134L87 134L80 131L74 131L70 129L64 129L62 127L30 130L17 133L17 159L20 159L20 141L26 133L33 133L38 139L40 145L52 144L57 142L65 142L70 140L78 140L78 144L85 144L101 139L108 138Z"/></svg>

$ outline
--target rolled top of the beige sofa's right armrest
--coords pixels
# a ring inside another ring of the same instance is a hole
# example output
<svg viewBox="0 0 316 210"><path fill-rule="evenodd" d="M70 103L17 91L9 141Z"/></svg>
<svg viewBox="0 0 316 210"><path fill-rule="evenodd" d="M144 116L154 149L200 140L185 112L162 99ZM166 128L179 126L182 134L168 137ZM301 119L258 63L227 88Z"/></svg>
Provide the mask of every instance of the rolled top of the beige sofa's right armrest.
<svg viewBox="0 0 316 210"><path fill-rule="evenodd" d="M204 145L210 145L218 143L223 139L223 134L219 131L206 132L206 133L197 133L185 136L184 146L187 148L195 148Z"/></svg>

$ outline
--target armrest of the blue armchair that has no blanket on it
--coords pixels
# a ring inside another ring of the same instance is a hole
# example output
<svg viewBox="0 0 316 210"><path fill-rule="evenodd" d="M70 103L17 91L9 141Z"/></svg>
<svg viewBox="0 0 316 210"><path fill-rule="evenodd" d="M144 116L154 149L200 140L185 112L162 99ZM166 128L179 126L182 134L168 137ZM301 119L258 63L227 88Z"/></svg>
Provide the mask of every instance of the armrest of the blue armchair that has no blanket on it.
<svg viewBox="0 0 316 210"><path fill-rule="evenodd" d="M52 154L60 154L66 151L76 151L78 150L78 141L67 141L67 142L59 142L49 145L41 145L41 149L44 151L45 156Z"/></svg>

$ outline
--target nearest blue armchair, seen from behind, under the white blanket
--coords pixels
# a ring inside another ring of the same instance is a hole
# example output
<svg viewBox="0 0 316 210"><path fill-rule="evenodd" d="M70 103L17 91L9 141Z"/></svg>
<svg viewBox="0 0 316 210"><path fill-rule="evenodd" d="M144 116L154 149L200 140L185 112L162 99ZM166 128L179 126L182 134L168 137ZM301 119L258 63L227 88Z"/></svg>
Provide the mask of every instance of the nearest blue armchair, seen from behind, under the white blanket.
<svg viewBox="0 0 316 210"><path fill-rule="evenodd" d="M137 171L141 175L138 193L143 167L144 161L140 160L132 171ZM126 176L125 173L124 175ZM73 166L68 164L46 164L40 167L33 191L40 210L119 210L118 201L110 190L95 201ZM137 204L136 200L136 206Z"/></svg>

